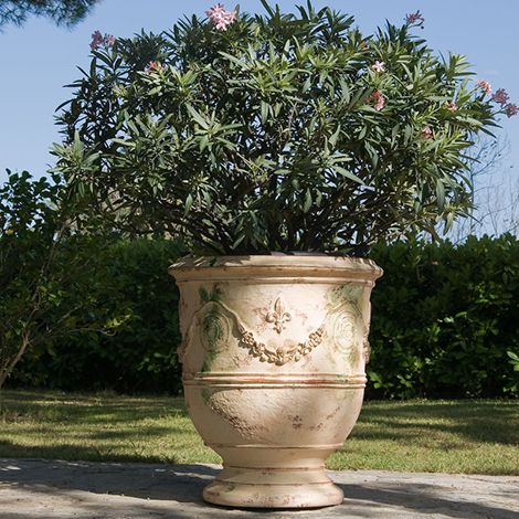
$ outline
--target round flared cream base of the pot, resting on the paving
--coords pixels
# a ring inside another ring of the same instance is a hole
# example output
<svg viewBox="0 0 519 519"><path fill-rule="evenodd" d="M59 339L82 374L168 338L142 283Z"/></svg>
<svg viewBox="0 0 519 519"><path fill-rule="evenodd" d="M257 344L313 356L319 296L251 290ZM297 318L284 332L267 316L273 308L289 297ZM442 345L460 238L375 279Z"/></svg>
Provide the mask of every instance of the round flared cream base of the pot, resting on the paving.
<svg viewBox="0 0 519 519"><path fill-rule="evenodd" d="M322 468L226 467L203 489L205 501L241 508L319 508L340 505L343 498Z"/></svg>

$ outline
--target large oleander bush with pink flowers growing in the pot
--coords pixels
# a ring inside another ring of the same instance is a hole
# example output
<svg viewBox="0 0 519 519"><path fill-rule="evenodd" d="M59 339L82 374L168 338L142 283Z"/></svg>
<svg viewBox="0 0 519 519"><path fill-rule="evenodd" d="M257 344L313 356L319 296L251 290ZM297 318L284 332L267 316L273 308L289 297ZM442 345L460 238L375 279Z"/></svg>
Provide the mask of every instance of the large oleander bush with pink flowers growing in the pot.
<svg viewBox="0 0 519 519"><path fill-rule="evenodd" d="M513 115L508 95L413 35L416 14L364 36L330 9L262 3L93 41L55 147L91 210L225 254L364 255L465 214L465 149Z"/></svg>

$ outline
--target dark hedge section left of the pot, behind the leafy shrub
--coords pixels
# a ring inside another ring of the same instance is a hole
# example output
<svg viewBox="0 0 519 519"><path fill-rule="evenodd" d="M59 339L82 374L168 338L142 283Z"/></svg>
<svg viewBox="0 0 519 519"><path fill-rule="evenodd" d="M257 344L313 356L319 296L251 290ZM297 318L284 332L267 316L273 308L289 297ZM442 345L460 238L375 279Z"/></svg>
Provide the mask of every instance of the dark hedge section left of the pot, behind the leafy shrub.
<svg viewBox="0 0 519 519"><path fill-rule="evenodd" d="M103 282L76 288L76 297L125 308L117 333L66 335L35 348L17 373L18 384L119 392L181 391L177 357L179 294L167 268L181 246L170 240L117 242L103 252ZM107 310L108 311L108 310Z"/></svg>

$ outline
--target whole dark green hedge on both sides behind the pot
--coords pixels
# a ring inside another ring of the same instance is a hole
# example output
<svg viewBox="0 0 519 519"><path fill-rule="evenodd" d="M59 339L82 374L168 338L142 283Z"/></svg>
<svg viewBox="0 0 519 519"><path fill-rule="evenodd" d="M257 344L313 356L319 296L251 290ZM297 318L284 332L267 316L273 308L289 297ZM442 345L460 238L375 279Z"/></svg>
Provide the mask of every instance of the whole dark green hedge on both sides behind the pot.
<svg viewBox="0 0 519 519"><path fill-rule="evenodd" d="M179 254L169 241L115 245L106 297L123 293L130 318L113 337L71 336L33 351L11 385L180 392L178 292L167 274ZM372 295L369 398L519 395L517 239L411 241L372 257L385 273Z"/></svg>

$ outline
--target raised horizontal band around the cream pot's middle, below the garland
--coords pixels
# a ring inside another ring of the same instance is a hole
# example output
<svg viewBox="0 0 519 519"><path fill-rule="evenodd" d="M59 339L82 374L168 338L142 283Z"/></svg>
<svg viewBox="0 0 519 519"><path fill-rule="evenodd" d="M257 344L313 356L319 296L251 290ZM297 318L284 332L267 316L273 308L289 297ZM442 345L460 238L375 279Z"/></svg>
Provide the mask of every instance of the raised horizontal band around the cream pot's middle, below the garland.
<svg viewBox="0 0 519 519"><path fill-rule="evenodd" d="M197 373L184 377L184 385L212 388L337 388L361 389L366 386L364 374L338 375L332 373Z"/></svg>

